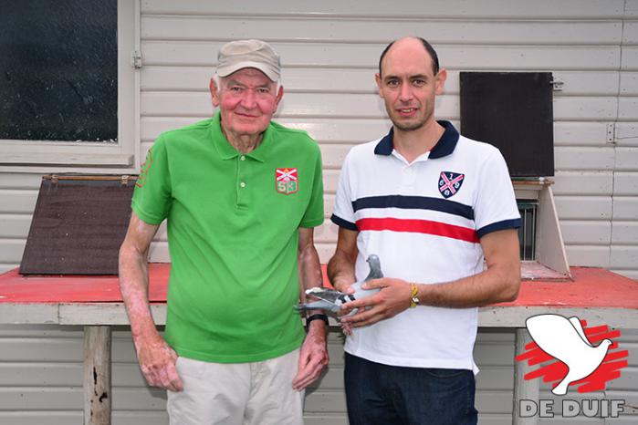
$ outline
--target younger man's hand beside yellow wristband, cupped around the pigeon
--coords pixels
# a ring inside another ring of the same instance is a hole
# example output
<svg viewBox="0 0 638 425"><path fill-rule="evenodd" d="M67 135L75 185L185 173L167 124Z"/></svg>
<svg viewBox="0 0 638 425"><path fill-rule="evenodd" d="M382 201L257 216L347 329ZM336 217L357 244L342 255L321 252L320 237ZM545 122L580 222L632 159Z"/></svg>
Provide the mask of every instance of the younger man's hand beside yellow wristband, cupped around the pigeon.
<svg viewBox="0 0 638 425"><path fill-rule="evenodd" d="M345 326L366 327L396 316L410 306L410 284L402 279L383 277L366 282L362 287L364 289L381 288L381 291L376 295L341 306L340 320ZM355 308L358 308L357 313L347 316Z"/></svg>

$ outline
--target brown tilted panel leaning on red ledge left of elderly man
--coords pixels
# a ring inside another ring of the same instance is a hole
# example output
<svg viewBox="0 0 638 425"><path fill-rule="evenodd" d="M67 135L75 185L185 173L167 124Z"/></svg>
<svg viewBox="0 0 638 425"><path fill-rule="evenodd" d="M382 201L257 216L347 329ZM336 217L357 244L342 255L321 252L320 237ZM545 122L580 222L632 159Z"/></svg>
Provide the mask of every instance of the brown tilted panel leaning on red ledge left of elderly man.
<svg viewBox="0 0 638 425"><path fill-rule="evenodd" d="M70 179L42 180L20 273L117 275L135 178Z"/></svg>

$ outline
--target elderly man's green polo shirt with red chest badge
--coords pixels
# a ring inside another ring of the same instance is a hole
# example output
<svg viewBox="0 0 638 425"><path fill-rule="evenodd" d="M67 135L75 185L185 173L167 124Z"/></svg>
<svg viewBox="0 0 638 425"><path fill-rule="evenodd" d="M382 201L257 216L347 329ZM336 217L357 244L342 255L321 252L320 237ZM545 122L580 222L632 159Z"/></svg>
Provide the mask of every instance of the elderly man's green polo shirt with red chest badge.
<svg viewBox="0 0 638 425"><path fill-rule="evenodd" d="M167 220L171 276L165 337L180 356L219 363L298 348L298 228L323 223L319 146L271 122L241 154L214 118L162 133L132 209Z"/></svg>

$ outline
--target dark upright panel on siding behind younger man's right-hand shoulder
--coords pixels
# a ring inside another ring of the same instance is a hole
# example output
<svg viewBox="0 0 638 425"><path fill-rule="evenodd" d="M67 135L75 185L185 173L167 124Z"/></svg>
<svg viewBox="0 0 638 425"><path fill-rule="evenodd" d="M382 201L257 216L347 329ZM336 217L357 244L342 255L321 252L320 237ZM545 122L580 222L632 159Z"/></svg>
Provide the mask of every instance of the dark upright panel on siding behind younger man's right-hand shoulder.
<svg viewBox="0 0 638 425"><path fill-rule="evenodd" d="M491 143L512 177L554 175L550 72L461 72L461 133Z"/></svg>

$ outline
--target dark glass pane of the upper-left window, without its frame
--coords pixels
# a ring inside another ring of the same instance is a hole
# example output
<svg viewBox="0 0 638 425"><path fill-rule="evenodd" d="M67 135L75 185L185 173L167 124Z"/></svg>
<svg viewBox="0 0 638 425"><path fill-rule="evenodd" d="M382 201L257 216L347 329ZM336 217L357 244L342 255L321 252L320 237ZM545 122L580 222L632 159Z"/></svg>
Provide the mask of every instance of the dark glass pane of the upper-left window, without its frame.
<svg viewBox="0 0 638 425"><path fill-rule="evenodd" d="M0 0L0 139L117 141L117 0Z"/></svg>

